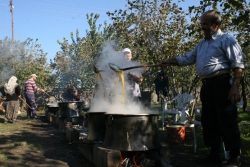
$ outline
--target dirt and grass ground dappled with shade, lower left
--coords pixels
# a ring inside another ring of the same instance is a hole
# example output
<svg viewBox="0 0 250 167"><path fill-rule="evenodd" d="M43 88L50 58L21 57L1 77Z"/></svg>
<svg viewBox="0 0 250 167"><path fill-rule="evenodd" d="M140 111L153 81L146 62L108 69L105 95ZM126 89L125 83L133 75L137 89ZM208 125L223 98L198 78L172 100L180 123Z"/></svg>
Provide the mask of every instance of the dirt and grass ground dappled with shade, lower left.
<svg viewBox="0 0 250 167"><path fill-rule="evenodd" d="M0 167L93 167L78 145L67 144L64 131L49 125L45 117L19 116L16 124L4 124L1 115L0 128L5 129L0 133Z"/></svg>

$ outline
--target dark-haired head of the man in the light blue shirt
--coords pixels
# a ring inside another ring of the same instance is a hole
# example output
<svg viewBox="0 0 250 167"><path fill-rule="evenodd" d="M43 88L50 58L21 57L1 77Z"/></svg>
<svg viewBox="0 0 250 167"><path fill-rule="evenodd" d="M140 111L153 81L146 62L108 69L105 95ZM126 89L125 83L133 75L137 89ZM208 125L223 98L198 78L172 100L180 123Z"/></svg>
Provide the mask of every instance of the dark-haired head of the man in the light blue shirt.
<svg viewBox="0 0 250 167"><path fill-rule="evenodd" d="M221 16L220 13L214 10L205 12L201 17L201 28L206 38L210 38L220 29Z"/></svg>

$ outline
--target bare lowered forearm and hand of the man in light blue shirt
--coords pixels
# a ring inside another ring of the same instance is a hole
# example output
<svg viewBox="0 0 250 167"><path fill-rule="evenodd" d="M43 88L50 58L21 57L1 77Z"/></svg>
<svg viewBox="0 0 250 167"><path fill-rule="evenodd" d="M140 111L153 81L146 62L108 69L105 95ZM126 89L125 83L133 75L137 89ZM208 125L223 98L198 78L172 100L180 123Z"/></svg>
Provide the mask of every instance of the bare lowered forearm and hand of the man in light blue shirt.
<svg viewBox="0 0 250 167"><path fill-rule="evenodd" d="M232 103L237 103L240 101L240 81L242 78L243 69L235 68L233 69L234 77L232 87L229 92L229 99L231 99Z"/></svg>

